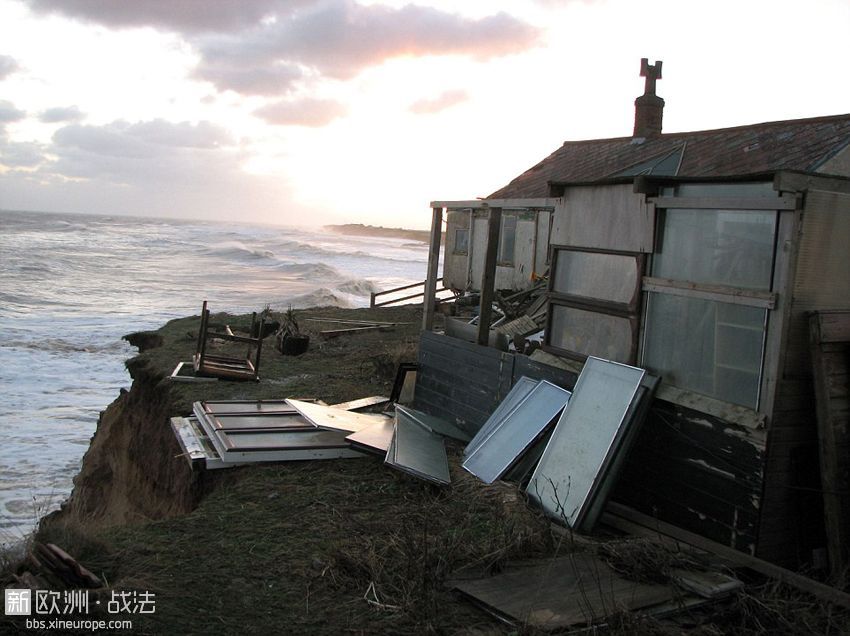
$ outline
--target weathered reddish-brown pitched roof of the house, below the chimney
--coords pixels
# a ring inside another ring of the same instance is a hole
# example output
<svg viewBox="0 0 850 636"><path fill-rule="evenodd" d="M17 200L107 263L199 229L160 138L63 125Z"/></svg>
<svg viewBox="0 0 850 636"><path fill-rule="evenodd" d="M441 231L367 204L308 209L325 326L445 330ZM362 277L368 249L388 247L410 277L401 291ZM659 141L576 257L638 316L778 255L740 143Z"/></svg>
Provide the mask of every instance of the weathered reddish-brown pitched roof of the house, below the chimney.
<svg viewBox="0 0 850 636"><path fill-rule="evenodd" d="M550 196L550 183L593 183L638 174L741 177L815 172L850 145L850 114L735 128L567 141L488 198Z"/></svg>

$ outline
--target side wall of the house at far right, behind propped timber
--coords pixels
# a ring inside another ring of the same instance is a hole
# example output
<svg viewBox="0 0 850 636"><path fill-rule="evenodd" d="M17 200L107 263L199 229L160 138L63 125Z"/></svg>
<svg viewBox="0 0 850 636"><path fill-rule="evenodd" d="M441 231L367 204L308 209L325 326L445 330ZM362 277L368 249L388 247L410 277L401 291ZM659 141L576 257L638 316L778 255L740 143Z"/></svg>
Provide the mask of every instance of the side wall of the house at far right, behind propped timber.
<svg viewBox="0 0 850 636"><path fill-rule="evenodd" d="M808 315L850 309L850 195L810 190L798 231L787 332L769 422L758 556L797 567L825 545Z"/></svg>

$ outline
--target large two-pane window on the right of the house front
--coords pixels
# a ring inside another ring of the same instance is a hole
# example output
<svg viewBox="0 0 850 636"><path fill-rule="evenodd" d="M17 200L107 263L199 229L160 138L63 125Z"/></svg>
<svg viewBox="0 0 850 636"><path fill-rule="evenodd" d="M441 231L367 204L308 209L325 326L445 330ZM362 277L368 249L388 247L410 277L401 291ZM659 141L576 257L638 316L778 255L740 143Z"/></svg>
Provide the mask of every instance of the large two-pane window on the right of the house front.
<svg viewBox="0 0 850 636"><path fill-rule="evenodd" d="M772 188L766 194L776 196ZM752 184L724 196L752 195ZM746 188L746 190L744 189ZM710 186L702 186L703 195ZM693 196L680 191L680 196ZM660 210L646 301L642 363L683 389L758 407L778 213Z"/></svg>

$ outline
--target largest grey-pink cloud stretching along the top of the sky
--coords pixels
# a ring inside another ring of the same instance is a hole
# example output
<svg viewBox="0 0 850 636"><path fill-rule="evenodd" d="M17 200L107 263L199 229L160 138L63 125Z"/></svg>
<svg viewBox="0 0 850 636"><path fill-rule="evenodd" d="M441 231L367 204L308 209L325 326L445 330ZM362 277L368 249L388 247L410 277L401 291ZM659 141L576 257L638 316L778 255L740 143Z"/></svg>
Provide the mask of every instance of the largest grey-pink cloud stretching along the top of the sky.
<svg viewBox="0 0 850 636"><path fill-rule="evenodd" d="M25 0L35 11L111 28L183 34L201 54L195 77L219 90L280 96L306 76L349 79L400 57L518 53L541 31L507 13L468 18L440 9L354 0Z"/></svg>

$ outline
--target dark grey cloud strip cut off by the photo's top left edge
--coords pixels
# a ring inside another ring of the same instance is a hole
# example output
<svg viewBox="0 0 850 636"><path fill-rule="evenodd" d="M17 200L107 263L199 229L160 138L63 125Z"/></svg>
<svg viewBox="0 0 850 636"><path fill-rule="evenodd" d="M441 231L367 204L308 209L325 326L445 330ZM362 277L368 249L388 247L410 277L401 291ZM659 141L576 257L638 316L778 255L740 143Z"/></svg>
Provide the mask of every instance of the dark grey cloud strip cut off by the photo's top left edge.
<svg viewBox="0 0 850 636"><path fill-rule="evenodd" d="M310 0L26 0L34 10L109 27L198 33L238 31Z"/></svg>

